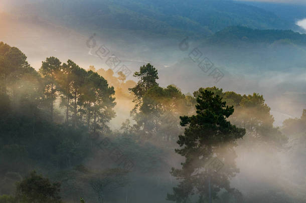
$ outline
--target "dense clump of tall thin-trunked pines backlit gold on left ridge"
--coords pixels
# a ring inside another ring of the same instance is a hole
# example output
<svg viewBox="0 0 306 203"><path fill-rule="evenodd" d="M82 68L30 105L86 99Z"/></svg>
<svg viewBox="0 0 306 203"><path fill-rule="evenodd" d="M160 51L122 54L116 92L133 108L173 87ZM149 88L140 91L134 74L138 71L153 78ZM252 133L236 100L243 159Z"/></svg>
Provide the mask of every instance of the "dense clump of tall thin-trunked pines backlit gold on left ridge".
<svg viewBox="0 0 306 203"><path fill-rule="evenodd" d="M43 62L40 73L45 81L44 104L50 108L51 118L54 101L60 96L66 125L76 128L85 116L84 123L91 131L108 129L107 123L115 116L115 92L103 77L91 70L86 72L71 60L62 64L55 57Z"/></svg>

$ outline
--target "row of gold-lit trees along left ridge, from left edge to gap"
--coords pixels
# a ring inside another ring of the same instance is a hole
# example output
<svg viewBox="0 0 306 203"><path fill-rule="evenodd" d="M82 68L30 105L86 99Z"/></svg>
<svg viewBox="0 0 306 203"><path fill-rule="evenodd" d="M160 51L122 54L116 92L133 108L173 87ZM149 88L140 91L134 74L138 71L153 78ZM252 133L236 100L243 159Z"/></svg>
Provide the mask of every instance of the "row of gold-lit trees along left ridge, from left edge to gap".
<svg viewBox="0 0 306 203"><path fill-rule="evenodd" d="M65 123L76 128L80 123L95 131L102 129L114 117L114 89L92 71L86 71L68 60L61 63L55 57L47 58L36 72L26 56L17 48L1 44L2 94L12 99L13 105L35 101L46 109L50 121L57 121L54 104L60 98L65 109Z"/></svg>

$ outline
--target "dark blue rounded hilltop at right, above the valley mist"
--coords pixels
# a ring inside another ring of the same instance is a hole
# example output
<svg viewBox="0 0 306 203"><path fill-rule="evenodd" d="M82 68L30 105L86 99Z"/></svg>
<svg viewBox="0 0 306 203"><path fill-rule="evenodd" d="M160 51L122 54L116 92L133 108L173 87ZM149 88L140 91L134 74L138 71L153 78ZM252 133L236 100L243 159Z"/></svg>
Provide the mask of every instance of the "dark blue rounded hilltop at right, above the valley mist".
<svg viewBox="0 0 306 203"><path fill-rule="evenodd" d="M198 47L216 65L245 73L302 70L306 65L306 35L293 31L229 27Z"/></svg>

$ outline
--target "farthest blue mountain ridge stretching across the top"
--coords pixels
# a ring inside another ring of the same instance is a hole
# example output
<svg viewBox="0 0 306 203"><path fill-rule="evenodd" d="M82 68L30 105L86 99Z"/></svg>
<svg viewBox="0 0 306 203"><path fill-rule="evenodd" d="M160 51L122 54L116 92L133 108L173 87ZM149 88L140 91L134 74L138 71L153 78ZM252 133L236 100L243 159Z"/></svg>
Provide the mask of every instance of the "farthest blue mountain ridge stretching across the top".
<svg viewBox="0 0 306 203"><path fill-rule="evenodd" d="M15 12L84 30L163 36L207 36L237 25L254 29L294 27L271 12L225 0L54 0L22 6Z"/></svg>

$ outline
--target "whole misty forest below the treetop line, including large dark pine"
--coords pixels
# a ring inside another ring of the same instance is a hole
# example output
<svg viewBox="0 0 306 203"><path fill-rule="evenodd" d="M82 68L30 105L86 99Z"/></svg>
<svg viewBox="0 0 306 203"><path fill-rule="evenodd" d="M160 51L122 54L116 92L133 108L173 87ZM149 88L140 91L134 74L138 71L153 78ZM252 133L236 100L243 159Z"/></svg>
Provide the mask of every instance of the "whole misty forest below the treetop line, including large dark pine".
<svg viewBox="0 0 306 203"><path fill-rule="evenodd" d="M276 128L258 93L133 76L56 57L36 71L1 42L0 203L306 201L306 110Z"/></svg>

